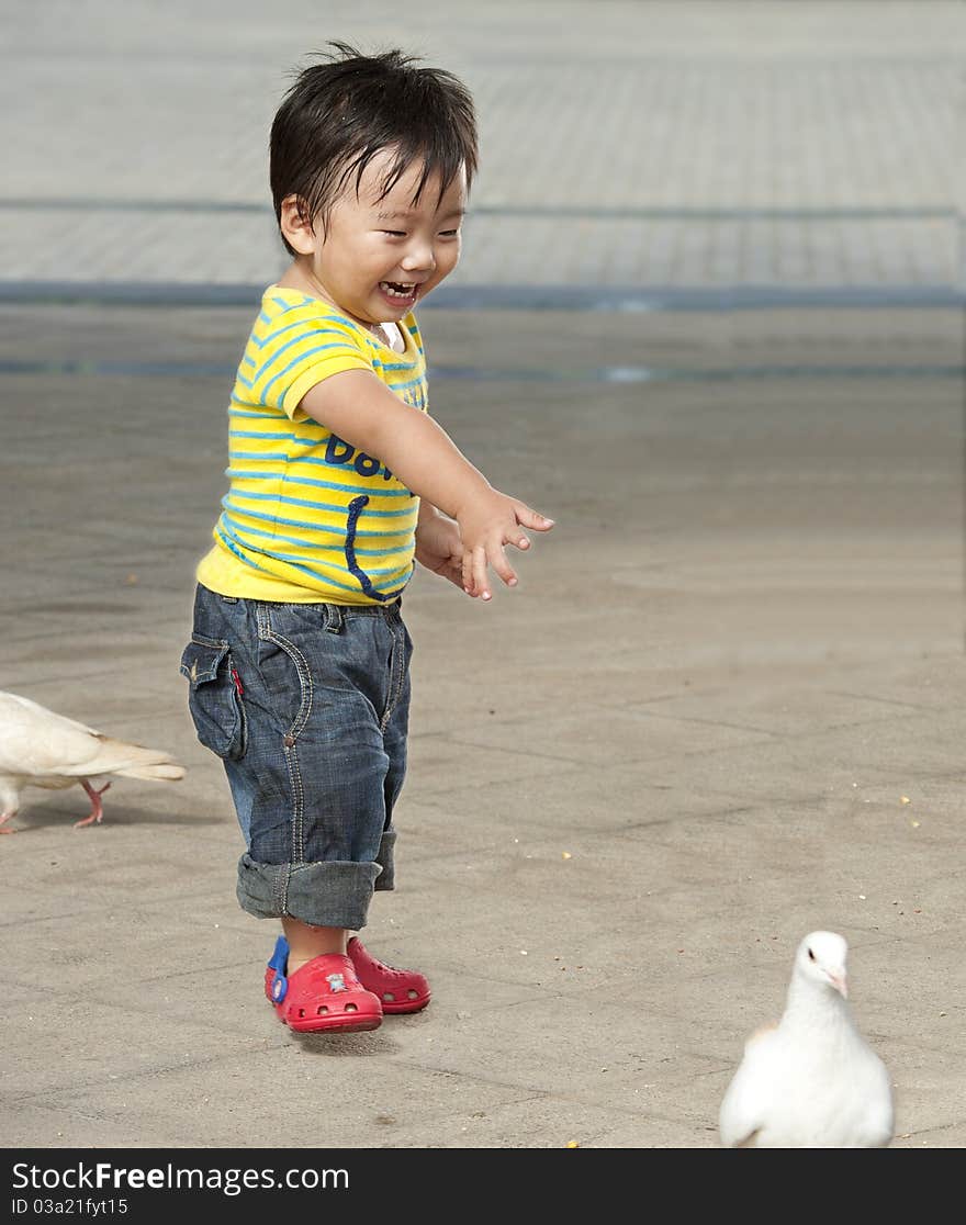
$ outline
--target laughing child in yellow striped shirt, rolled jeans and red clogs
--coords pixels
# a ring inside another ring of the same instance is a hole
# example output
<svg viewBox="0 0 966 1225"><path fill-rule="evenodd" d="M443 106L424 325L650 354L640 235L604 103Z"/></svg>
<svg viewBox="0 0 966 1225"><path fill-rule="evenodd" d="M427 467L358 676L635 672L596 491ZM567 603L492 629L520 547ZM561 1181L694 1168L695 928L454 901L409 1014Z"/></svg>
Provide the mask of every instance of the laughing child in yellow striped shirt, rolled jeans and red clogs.
<svg viewBox="0 0 966 1225"><path fill-rule="evenodd" d="M552 521L495 490L426 413L416 303L457 266L473 100L399 51L337 43L272 125L293 260L262 299L230 404L230 489L181 659L246 850L241 907L280 919L266 992L293 1030L375 1029L426 979L358 937L393 888L414 568L489 600L504 546Z"/></svg>

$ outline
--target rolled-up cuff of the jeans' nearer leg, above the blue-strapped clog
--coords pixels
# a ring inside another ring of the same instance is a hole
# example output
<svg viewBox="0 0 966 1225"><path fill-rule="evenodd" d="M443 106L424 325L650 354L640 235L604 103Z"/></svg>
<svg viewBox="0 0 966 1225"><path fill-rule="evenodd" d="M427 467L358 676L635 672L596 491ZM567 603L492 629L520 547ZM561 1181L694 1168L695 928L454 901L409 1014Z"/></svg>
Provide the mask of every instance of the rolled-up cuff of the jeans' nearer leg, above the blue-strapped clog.
<svg viewBox="0 0 966 1225"><path fill-rule="evenodd" d="M298 919L312 927L359 931L366 926L380 873L378 864L256 864L245 854L239 860L238 899L257 919Z"/></svg>

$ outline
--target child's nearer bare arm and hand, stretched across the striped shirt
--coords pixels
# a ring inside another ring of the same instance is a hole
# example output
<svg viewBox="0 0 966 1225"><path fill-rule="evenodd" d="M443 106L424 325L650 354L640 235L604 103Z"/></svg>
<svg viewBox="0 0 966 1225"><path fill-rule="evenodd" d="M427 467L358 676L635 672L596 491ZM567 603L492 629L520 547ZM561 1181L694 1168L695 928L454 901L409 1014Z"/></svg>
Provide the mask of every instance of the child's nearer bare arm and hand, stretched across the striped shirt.
<svg viewBox="0 0 966 1225"><path fill-rule="evenodd" d="M489 568L513 587L504 545L529 549L523 528L549 532L553 521L501 494L425 413L404 404L369 370L344 370L316 383L300 407L345 442L377 456L404 484L459 524L463 589L491 597Z"/></svg>

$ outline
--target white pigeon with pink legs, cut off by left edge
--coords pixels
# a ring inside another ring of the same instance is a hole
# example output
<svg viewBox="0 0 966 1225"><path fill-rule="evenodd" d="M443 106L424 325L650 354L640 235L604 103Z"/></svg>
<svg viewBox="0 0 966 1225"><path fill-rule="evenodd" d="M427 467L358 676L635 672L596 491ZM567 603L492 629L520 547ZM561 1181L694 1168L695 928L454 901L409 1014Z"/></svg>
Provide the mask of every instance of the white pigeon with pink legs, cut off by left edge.
<svg viewBox="0 0 966 1225"><path fill-rule="evenodd" d="M13 833L2 827L20 810L24 786L56 790L80 783L91 797L91 813L76 826L99 822L100 796L110 786L103 780L109 774L174 782L184 778L185 768L162 750L113 740L0 690L0 833Z"/></svg>

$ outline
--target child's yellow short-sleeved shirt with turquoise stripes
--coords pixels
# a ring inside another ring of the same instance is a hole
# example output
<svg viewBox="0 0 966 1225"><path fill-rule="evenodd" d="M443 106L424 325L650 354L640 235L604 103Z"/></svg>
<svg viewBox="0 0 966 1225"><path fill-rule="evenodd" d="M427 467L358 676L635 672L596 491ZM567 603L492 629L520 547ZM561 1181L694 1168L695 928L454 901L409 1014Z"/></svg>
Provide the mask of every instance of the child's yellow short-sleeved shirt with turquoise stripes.
<svg viewBox="0 0 966 1225"><path fill-rule="evenodd" d="M269 285L229 405L230 488L198 582L222 595L375 604L413 573L419 499L375 456L299 407L342 370L372 370L426 410L426 361L414 315L394 353L334 306Z"/></svg>

